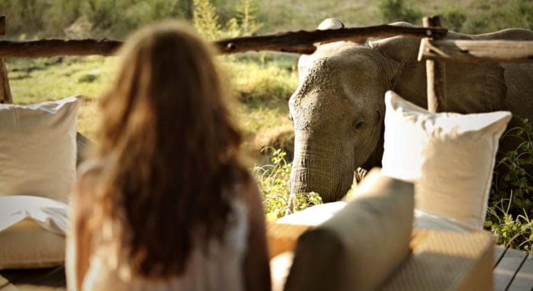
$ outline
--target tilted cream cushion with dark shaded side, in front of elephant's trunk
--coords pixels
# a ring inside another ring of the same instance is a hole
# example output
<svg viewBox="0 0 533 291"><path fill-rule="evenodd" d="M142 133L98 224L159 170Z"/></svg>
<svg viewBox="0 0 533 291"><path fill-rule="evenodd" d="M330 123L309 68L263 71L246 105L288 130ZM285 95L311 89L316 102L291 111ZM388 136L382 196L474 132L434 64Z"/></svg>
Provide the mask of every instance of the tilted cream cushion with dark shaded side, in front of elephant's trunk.
<svg viewBox="0 0 533 291"><path fill-rule="evenodd" d="M300 236L284 290L375 290L408 256L413 184L373 170L362 185Z"/></svg>

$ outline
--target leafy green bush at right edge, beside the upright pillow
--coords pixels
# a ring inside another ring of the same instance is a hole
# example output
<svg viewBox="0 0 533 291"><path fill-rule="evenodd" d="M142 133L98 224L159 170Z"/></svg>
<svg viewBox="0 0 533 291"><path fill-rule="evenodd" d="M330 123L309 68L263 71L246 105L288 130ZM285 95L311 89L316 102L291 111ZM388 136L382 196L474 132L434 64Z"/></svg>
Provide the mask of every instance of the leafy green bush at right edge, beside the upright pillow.
<svg viewBox="0 0 533 291"><path fill-rule="evenodd" d="M496 163L485 226L498 234L498 243L532 251L533 121L522 120L504 134L516 143Z"/></svg>

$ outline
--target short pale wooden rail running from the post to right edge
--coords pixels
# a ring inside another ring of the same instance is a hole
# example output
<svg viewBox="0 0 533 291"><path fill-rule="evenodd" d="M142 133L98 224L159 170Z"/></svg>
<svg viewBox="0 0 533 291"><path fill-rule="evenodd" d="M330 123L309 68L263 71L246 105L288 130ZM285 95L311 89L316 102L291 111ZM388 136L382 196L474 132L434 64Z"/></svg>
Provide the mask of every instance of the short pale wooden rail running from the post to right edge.
<svg viewBox="0 0 533 291"><path fill-rule="evenodd" d="M422 39L418 60L533 62L533 41Z"/></svg>

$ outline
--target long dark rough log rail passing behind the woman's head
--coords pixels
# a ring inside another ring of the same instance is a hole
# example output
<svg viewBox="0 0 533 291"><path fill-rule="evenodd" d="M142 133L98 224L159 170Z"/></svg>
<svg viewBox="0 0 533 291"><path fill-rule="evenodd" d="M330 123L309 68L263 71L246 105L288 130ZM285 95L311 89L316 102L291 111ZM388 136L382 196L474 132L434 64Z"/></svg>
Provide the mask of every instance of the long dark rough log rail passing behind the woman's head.
<svg viewBox="0 0 533 291"><path fill-rule="evenodd" d="M222 54L245 51L283 51L313 53L317 42L351 40L365 42L369 37L406 35L425 37L445 35L444 28L408 28L401 26L369 26L336 30L297 31L251 37L221 39L214 42ZM42 39L27 42L0 41L0 58L39 58L56 55L114 55L122 42L108 39Z"/></svg>

